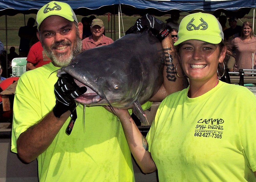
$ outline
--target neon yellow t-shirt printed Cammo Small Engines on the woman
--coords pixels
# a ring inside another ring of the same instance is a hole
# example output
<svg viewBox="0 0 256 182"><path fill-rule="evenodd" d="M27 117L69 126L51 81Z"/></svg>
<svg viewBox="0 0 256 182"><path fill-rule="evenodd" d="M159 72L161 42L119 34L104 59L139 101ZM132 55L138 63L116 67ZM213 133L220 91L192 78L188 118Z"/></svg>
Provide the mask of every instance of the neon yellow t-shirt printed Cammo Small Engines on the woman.
<svg viewBox="0 0 256 182"><path fill-rule="evenodd" d="M167 96L147 135L159 181L256 181L256 97L223 82Z"/></svg>

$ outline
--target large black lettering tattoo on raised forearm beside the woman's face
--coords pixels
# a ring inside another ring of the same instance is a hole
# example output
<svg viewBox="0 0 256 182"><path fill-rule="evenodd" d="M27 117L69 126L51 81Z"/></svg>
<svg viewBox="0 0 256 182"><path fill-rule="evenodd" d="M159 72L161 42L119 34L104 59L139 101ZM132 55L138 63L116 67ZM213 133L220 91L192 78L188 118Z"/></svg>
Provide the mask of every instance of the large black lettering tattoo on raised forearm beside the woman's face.
<svg viewBox="0 0 256 182"><path fill-rule="evenodd" d="M165 60L165 65L166 65L166 73L167 73L167 79L171 82L176 81L176 76L175 76L175 71L174 71L174 64L172 63L173 58L172 55L168 53L170 48L164 49L164 60Z"/></svg>

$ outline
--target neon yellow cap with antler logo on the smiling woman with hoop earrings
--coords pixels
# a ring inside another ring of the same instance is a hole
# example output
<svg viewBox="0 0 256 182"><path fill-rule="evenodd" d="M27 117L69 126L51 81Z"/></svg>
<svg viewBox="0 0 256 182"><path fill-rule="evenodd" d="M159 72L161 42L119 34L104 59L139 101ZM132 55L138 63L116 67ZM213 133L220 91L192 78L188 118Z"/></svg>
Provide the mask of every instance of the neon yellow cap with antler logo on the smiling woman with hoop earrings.
<svg viewBox="0 0 256 182"><path fill-rule="evenodd" d="M193 13L185 16L179 25L178 45L187 40L199 40L211 44L219 44L224 34L217 18L208 13Z"/></svg>

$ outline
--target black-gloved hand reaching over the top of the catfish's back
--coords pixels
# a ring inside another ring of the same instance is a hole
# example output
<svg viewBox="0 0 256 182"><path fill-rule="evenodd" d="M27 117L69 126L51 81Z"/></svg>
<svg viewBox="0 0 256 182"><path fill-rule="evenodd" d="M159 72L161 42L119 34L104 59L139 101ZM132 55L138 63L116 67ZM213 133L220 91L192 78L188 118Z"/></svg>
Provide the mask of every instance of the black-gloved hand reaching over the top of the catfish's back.
<svg viewBox="0 0 256 182"><path fill-rule="evenodd" d="M168 24L146 14L143 17L138 18L136 23L127 30L125 34L140 32L145 28L150 28L152 33L156 35L160 41L162 41L172 31L172 28Z"/></svg>

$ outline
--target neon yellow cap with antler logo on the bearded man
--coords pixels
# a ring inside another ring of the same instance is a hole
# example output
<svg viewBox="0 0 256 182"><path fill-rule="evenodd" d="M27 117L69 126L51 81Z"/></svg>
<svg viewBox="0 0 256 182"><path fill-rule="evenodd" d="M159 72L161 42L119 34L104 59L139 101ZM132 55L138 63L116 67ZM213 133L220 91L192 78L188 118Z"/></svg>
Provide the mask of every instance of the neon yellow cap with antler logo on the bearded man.
<svg viewBox="0 0 256 182"><path fill-rule="evenodd" d="M52 1L44 5L43 7L41 7L37 12L37 15L36 15L37 29L39 30L41 23L47 17L52 15L61 16L63 18L66 18L69 21L75 21L76 23L78 23L77 17L74 11L67 3Z"/></svg>

